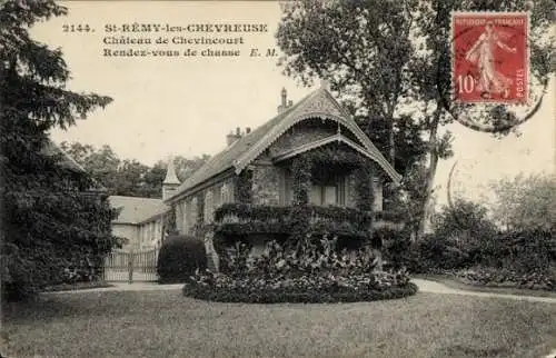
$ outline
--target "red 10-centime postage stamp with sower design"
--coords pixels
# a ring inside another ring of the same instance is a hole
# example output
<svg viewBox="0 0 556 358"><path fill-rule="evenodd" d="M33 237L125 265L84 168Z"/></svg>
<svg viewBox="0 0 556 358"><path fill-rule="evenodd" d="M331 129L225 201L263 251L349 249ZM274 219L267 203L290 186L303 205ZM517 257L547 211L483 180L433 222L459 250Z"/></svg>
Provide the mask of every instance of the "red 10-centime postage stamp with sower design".
<svg viewBox="0 0 556 358"><path fill-rule="evenodd" d="M526 105L527 12L454 12L451 86L463 103Z"/></svg>

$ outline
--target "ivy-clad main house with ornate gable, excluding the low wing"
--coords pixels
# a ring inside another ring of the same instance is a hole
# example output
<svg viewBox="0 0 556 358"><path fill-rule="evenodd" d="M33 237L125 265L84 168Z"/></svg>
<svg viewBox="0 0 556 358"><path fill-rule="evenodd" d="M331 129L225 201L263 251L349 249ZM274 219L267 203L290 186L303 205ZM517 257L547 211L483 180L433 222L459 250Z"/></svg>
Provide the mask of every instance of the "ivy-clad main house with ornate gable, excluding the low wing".
<svg viewBox="0 0 556 358"><path fill-rule="evenodd" d="M297 158L312 158L308 205L317 208L315 215L322 211L319 207L335 207L338 208L335 209L337 218L341 208L348 210L359 206L358 166L354 158L371 168L370 176L364 180L368 180L375 212L383 210L384 183L388 180L399 182L401 178L332 98L326 83L295 105L288 101L287 92L282 90L275 118L255 130L237 128L226 136L226 149L211 157L185 182L178 185L170 180L163 200L172 208L179 232L195 235L201 226L211 228L209 231L212 232L206 236L206 246L215 260L218 259L211 242L215 230L231 223L249 225L252 229L260 221L259 213L252 210L272 212L274 209L266 208L285 208L284 212L289 212L287 208L298 200ZM252 217L246 217L246 210L250 210ZM345 211L344 217L350 212ZM266 223L260 222L266 229L252 230L262 236L274 233L268 232L269 225ZM264 242L258 243L261 245Z"/></svg>

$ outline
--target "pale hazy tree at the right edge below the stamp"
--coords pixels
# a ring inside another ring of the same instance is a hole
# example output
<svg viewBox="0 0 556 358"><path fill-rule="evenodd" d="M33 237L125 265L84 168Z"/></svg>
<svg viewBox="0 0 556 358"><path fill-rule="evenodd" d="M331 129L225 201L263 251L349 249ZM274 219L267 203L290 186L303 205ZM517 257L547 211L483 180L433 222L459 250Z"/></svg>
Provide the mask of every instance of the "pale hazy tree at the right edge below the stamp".
<svg viewBox="0 0 556 358"><path fill-rule="evenodd" d="M490 185L495 195L493 217L507 230L556 228L556 177L519 175Z"/></svg>

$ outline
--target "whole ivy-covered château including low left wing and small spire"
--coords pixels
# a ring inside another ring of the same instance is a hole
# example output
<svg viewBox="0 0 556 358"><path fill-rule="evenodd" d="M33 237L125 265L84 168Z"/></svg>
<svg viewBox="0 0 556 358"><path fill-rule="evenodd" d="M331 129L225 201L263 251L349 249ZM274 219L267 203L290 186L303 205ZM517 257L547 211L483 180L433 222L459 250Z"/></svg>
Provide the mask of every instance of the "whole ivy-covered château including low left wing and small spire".
<svg viewBox="0 0 556 358"><path fill-rule="evenodd" d="M255 130L237 128L226 143L183 182L170 160L162 199L110 197L120 209L113 233L128 239L125 249L157 247L168 231L178 231L200 236L218 266L216 232L247 237L254 252L260 252L266 240L288 235L288 220L304 195L316 230L348 239L361 236L358 212L366 206L374 212L373 227L387 223L380 219L383 186L401 177L326 83L298 103L282 90L275 118ZM299 167L302 158L307 168ZM363 176L361 168L367 168ZM361 188L367 189L361 193Z"/></svg>

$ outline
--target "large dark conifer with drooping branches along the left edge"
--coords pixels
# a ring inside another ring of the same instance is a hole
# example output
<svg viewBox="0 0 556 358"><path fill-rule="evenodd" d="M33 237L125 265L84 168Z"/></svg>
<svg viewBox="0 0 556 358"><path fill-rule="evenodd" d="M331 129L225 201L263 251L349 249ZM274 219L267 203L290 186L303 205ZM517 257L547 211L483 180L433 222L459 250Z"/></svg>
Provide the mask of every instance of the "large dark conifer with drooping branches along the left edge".
<svg viewBox="0 0 556 358"><path fill-rule="evenodd" d="M73 126L111 101L67 90L61 51L29 37L37 21L66 13L50 0L0 4L0 268L9 298L59 282L71 265L96 266L118 245L106 196L85 195L92 179L48 138L50 129Z"/></svg>

